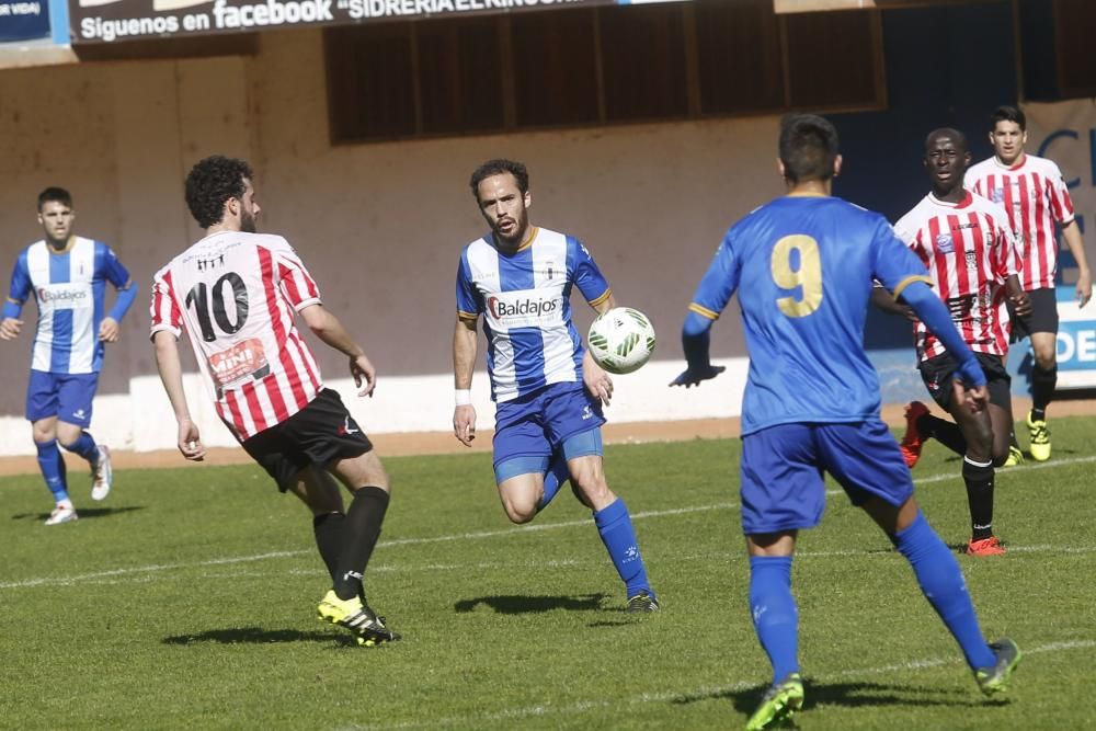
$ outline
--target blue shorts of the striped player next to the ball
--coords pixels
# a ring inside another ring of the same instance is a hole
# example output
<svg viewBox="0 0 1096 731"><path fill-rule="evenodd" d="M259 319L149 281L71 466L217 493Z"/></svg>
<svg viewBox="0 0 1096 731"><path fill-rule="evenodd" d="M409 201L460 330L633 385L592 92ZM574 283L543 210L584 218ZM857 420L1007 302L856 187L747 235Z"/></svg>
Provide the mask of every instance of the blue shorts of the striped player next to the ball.
<svg viewBox="0 0 1096 731"><path fill-rule="evenodd" d="M560 447L568 459L600 456L604 423L601 403L581 382L551 384L503 401L494 414L495 481L545 471Z"/></svg>

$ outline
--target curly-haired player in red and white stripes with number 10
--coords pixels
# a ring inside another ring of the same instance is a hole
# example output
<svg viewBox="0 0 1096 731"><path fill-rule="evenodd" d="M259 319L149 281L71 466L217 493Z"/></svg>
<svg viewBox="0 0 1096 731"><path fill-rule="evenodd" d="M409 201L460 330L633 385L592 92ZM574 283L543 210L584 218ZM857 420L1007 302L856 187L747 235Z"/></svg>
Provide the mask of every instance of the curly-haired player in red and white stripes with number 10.
<svg viewBox="0 0 1096 731"><path fill-rule="evenodd" d="M333 581L320 618L372 647L399 638L366 604L362 587L388 509L388 475L339 395L323 388L295 316L350 358L359 396L373 392L376 370L324 309L289 243L255 232L261 208L252 178L247 162L219 156L187 175L186 204L205 237L153 277L157 366L179 423L179 450L199 461L205 447L183 391L176 342L185 331L221 421L283 492L312 511L317 546ZM345 513L329 472L353 494Z"/></svg>

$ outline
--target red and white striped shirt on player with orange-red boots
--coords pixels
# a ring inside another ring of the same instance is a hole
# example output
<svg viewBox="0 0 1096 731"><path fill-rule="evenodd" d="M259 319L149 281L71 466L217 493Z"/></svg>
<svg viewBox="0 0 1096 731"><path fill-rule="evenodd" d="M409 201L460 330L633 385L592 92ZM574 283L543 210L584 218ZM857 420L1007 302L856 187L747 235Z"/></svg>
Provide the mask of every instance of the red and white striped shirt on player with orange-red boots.
<svg viewBox="0 0 1096 731"><path fill-rule="evenodd" d="M970 350L1004 356L1011 331L1004 283L1018 272L1020 261L1001 206L969 192L959 203L929 193L894 230L925 262ZM915 332L922 361L946 352L923 322Z"/></svg>

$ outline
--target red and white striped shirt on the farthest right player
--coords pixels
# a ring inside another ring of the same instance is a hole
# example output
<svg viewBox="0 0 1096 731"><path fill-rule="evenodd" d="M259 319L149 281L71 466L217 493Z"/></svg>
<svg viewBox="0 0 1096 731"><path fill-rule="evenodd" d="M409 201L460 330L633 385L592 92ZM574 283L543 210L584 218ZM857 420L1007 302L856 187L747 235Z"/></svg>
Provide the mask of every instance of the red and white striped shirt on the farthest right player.
<svg viewBox="0 0 1096 731"><path fill-rule="evenodd" d="M996 157L983 160L967 171L968 190L989 198L1008 214L1008 222L1019 239L1025 289L1054 286L1058 271L1058 239L1054 221L1073 220L1073 201L1053 161L1025 155L1014 165Z"/></svg>

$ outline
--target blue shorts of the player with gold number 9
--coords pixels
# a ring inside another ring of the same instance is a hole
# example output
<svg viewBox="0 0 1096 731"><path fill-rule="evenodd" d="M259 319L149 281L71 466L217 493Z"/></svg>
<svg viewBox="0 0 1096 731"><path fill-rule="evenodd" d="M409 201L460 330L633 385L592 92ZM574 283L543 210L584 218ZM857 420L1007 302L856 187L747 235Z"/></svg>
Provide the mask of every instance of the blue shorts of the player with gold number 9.
<svg viewBox="0 0 1096 731"><path fill-rule="evenodd" d="M854 505L891 505L913 479L890 430L878 419L852 424L780 424L742 437L742 533L813 528L825 510L823 471Z"/></svg>

